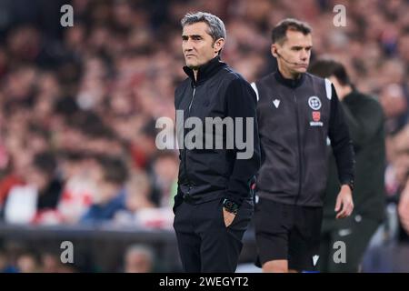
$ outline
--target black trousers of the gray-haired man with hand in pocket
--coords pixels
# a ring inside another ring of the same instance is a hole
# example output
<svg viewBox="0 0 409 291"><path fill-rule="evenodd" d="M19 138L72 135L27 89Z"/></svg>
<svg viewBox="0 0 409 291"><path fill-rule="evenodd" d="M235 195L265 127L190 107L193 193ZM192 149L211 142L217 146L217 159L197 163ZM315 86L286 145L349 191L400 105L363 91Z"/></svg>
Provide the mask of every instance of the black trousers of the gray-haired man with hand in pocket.
<svg viewBox="0 0 409 291"><path fill-rule="evenodd" d="M174 228L185 272L234 273L253 213L254 203L249 198L226 227L221 199L177 206Z"/></svg>

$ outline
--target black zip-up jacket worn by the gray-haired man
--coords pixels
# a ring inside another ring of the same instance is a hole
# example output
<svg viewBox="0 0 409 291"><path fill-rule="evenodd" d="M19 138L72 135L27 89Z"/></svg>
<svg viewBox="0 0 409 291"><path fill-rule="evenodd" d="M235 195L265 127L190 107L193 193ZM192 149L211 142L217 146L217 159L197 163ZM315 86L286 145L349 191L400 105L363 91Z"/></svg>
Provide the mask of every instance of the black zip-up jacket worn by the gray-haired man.
<svg viewBox="0 0 409 291"><path fill-rule="evenodd" d="M183 111L184 122L188 117L198 117L202 121L204 149L187 149L179 144L180 166L174 209L183 199L199 204L228 198L240 206L245 198L251 196L251 182L255 180L260 167L254 90L241 75L221 62L219 56L199 68L197 81L192 69L185 66L184 70L189 77L175 90L175 109ZM245 149L239 149L240 146L237 147L235 142L234 148L226 149L226 127L222 136L223 149L214 149L215 146L213 149L205 149L205 138L212 134L213 140L216 139L214 132L205 130L205 117L223 119L227 116L244 117L243 126L235 128L234 125L235 132L240 130L243 136L246 136L245 117L253 117L251 138L254 140L254 152L250 158L236 158L236 155L245 152ZM181 130L185 132L185 136L189 132L186 128L177 128L179 136ZM180 139L178 141L180 142Z"/></svg>

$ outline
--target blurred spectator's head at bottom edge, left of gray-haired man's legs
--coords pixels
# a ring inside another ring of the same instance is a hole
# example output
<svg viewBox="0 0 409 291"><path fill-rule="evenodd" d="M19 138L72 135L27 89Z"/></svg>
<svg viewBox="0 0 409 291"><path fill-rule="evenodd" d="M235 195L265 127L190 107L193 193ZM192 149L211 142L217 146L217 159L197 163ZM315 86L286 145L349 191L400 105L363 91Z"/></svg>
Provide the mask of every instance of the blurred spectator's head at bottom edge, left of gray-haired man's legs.
<svg viewBox="0 0 409 291"><path fill-rule="evenodd" d="M149 246L129 246L125 251L125 273L152 273L155 271L155 252Z"/></svg>

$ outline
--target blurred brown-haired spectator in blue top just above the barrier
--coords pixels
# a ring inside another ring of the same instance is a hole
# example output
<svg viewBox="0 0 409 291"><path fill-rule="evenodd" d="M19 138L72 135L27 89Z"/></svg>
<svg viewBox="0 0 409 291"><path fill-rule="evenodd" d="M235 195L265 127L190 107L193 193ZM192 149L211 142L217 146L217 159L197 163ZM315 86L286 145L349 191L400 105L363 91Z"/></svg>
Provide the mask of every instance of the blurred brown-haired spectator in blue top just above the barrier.
<svg viewBox="0 0 409 291"><path fill-rule="evenodd" d="M125 182L128 170L120 158L102 156L94 171L96 185L93 203L81 218L82 223L109 221L125 209Z"/></svg>

